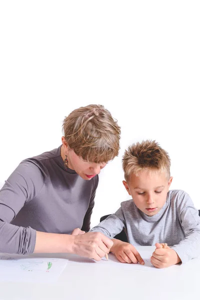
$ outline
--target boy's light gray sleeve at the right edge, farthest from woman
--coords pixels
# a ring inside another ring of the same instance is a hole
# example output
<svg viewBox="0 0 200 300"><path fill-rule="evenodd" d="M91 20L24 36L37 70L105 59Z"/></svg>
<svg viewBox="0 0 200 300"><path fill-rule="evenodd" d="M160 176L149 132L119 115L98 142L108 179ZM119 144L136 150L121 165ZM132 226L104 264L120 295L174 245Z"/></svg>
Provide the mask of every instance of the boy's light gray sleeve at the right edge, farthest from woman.
<svg viewBox="0 0 200 300"><path fill-rule="evenodd" d="M200 217L189 195L182 193L178 200L178 217L185 238L171 248L176 251L182 263L200 255Z"/></svg>

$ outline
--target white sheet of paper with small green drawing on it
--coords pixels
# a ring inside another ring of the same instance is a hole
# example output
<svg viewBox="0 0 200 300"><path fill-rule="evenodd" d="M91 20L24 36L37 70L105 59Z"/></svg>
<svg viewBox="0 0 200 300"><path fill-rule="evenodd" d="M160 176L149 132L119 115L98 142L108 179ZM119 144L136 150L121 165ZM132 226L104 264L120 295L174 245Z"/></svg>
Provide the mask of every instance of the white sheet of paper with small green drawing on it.
<svg viewBox="0 0 200 300"><path fill-rule="evenodd" d="M67 262L63 258L0 253L0 281L54 282Z"/></svg>

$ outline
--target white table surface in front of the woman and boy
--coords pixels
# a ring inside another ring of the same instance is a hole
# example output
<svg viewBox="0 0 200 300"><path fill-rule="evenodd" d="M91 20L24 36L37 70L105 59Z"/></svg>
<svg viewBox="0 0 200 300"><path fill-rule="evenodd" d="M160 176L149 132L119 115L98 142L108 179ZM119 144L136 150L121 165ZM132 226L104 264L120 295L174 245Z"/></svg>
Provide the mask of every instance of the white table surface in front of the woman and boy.
<svg viewBox="0 0 200 300"><path fill-rule="evenodd" d="M154 247L137 247L152 250ZM0 299L199 299L200 259L153 272L115 267L73 254L37 254L69 259L56 283L0 282Z"/></svg>

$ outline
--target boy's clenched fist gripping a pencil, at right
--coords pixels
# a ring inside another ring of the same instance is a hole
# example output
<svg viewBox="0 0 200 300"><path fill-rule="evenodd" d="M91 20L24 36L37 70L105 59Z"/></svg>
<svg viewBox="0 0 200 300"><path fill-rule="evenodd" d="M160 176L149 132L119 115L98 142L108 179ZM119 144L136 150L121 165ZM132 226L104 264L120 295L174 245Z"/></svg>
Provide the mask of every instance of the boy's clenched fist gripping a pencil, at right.
<svg viewBox="0 0 200 300"><path fill-rule="evenodd" d="M163 268L181 262L180 257L175 250L168 246L163 248L163 245L164 243L156 242L156 249L150 258L152 265L158 268Z"/></svg>

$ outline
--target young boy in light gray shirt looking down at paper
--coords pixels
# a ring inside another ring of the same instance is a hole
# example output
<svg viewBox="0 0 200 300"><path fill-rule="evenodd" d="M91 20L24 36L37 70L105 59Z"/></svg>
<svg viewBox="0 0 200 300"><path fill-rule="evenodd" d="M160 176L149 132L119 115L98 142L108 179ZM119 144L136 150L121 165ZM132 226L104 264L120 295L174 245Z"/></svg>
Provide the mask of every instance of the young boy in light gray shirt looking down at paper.
<svg viewBox="0 0 200 300"><path fill-rule="evenodd" d="M154 245L151 263L158 268L186 262L200 255L200 217L189 195L169 190L170 158L155 141L137 142L128 147L122 159L125 186L131 200L90 231L113 238L125 230L128 243L112 239L110 249L121 262L141 263L134 248ZM163 248L164 243L169 246ZM134 245L134 246L133 246Z"/></svg>

